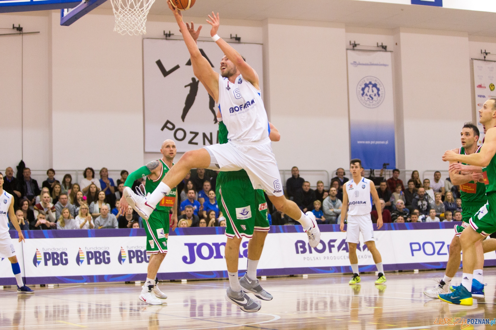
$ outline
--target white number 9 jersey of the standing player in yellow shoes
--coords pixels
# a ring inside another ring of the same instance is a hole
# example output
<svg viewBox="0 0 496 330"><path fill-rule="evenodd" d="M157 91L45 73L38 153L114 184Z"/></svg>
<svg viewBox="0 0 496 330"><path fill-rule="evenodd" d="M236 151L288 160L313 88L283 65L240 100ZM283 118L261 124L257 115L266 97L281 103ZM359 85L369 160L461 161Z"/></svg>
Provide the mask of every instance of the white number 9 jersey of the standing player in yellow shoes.
<svg viewBox="0 0 496 330"><path fill-rule="evenodd" d="M345 184L348 194L348 214L365 215L372 211L371 180L362 178L358 185L351 179Z"/></svg>

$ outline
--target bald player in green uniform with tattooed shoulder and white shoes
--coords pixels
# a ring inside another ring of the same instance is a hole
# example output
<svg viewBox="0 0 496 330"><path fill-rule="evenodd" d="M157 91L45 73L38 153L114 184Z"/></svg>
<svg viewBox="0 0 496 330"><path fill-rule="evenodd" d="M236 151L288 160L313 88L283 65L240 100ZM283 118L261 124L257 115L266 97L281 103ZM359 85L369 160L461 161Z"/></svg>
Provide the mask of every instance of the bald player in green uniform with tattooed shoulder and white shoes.
<svg viewBox="0 0 496 330"><path fill-rule="evenodd" d="M157 188L157 185L162 181L165 174L169 172L174 165L173 161L174 157L176 157L176 143L172 140L164 141L160 153L162 153L162 158L153 160L129 174L124 183L124 187L131 188L135 180L146 176L145 192L143 194L141 191L140 194L145 195ZM139 188L141 189L141 186ZM142 286L139 300L146 302L149 305L161 305L161 299L167 298L167 295L160 291L157 286L157 272L167 254L169 213L171 209L172 230L176 229L176 225L178 224L176 197L176 187L174 187L157 204L148 220L143 219L147 239L146 254L150 255L150 260L148 262L146 282ZM121 205L119 207L121 214L125 214L127 206L127 200L122 197Z"/></svg>

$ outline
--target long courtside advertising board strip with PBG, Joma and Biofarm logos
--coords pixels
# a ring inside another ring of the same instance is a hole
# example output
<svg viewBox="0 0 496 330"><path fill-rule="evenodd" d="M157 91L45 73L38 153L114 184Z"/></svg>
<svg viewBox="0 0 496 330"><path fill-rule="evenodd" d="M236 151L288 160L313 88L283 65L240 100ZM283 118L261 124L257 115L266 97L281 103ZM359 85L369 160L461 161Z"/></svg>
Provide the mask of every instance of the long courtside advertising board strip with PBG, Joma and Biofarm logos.
<svg viewBox="0 0 496 330"><path fill-rule="evenodd" d="M385 224L375 231L384 270L445 268L456 223ZM375 225L374 225L375 227ZM258 263L258 276L349 273L346 233L338 225L321 225L321 240L310 247L301 226L272 226ZM12 231L14 237L17 232ZM144 281L149 256L144 229L29 231L16 246L17 259L28 284ZM222 227L178 228L171 232L161 280L227 278ZM12 238L12 241L16 241ZM21 244L19 244L21 245ZM357 255L362 272L375 271L372 254L360 239ZM495 252L485 255L496 265ZM248 239L239 254L245 273ZM8 260L2 264L0 285L15 284Z"/></svg>

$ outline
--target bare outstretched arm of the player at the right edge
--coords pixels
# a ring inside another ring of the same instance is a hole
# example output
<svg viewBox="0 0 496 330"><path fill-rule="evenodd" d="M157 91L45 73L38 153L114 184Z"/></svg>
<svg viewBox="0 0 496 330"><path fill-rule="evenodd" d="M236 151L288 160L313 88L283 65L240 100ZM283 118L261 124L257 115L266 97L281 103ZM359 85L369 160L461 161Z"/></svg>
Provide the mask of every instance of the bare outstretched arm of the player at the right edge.
<svg viewBox="0 0 496 330"><path fill-rule="evenodd" d="M453 150L446 150L442 155L443 161L462 162L474 166L488 166L491 159L496 154L496 129L490 128L481 147L480 152L472 153L470 155L460 155Z"/></svg>

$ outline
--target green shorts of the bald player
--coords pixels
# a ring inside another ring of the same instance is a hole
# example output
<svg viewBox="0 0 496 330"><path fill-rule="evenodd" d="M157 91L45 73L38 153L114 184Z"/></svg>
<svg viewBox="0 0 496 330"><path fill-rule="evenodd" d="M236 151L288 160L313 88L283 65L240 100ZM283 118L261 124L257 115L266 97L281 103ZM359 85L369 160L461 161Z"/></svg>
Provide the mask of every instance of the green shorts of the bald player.
<svg viewBox="0 0 496 330"><path fill-rule="evenodd" d="M153 211L148 220L143 219L146 231L146 253L167 253L169 238L169 212Z"/></svg>

